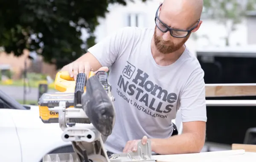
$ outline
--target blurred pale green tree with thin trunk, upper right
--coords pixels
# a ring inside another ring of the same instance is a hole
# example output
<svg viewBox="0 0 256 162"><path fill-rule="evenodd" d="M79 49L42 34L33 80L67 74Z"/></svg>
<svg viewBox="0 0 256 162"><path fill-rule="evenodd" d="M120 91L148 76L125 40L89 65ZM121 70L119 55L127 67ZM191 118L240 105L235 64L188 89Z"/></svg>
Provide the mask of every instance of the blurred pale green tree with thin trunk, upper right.
<svg viewBox="0 0 256 162"><path fill-rule="evenodd" d="M204 13L225 26L227 36L224 39L229 45L230 34L248 11L256 10L255 5L256 0L204 0Z"/></svg>

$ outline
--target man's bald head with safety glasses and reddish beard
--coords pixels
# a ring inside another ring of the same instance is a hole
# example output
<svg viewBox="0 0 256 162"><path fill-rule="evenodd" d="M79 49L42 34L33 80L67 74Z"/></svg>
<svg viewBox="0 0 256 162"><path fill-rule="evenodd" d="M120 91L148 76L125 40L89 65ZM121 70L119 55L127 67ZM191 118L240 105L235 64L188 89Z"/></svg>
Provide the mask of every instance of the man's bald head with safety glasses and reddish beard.
<svg viewBox="0 0 256 162"><path fill-rule="evenodd" d="M203 10L203 0L164 0L157 10L154 30L154 46L162 54L182 50L190 34L196 32L202 21L198 21ZM190 30L179 31L169 28Z"/></svg>

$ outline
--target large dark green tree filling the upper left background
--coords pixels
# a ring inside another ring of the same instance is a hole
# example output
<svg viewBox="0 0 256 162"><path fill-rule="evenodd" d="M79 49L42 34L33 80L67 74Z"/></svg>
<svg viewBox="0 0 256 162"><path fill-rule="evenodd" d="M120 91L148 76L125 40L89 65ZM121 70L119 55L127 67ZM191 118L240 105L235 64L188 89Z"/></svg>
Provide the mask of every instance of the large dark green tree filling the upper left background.
<svg viewBox="0 0 256 162"><path fill-rule="evenodd" d="M16 56L24 49L36 51L46 62L61 68L95 44L97 18L105 17L108 5L114 3L125 6L127 1L1 0L0 46ZM81 28L89 34L85 42Z"/></svg>

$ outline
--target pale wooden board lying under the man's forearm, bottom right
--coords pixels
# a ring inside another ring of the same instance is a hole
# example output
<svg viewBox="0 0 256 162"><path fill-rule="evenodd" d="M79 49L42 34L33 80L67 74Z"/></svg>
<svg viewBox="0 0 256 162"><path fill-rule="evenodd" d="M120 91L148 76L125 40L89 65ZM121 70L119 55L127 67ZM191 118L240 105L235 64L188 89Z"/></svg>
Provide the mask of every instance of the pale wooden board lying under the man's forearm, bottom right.
<svg viewBox="0 0 256 162"><path fill-rule="evenodd" d="M256 162L256 153L244 150L212 151L178 155L154 155L156 162Z"/></svg>

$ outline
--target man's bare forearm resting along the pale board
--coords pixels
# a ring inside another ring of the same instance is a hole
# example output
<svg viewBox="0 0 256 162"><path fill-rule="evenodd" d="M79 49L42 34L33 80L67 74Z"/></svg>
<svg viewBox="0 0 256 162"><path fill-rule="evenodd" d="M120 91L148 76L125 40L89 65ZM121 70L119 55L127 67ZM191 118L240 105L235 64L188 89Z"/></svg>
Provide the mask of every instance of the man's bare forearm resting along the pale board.
<svg viewBox="0 0 256 162"><path fill-rule="evenodd" d="M168 139L151 139L151 148L162 155L198 153L204 146L204 139L195 133L184 133Z"/></svg>

